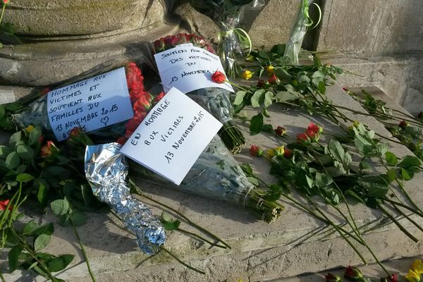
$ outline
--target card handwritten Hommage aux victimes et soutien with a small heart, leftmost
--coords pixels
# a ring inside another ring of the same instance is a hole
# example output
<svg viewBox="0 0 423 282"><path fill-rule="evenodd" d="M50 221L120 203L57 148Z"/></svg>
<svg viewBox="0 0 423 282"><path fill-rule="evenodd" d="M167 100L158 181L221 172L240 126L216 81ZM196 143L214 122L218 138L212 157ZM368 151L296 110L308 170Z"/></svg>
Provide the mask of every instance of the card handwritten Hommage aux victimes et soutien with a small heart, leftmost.
<svg viewBox="0 0 423 282"><path fill-rule="evenodd" d="M59 141L66 140L75 127L90 132L133 117L125 68L52 90L47 95L47 114Z"/></svg>

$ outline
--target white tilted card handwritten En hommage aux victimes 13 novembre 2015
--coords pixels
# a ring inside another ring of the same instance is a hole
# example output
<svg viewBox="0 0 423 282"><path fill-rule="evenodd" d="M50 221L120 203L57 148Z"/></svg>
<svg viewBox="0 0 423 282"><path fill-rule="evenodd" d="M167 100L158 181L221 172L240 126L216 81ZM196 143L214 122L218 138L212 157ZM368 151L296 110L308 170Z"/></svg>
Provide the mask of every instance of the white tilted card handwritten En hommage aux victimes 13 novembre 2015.
<svg viewBox="0 0 423 282"><path fill-rule="evenodd" d="M145 117L121 152L180 185L221 123L172 88Z"/></svg>

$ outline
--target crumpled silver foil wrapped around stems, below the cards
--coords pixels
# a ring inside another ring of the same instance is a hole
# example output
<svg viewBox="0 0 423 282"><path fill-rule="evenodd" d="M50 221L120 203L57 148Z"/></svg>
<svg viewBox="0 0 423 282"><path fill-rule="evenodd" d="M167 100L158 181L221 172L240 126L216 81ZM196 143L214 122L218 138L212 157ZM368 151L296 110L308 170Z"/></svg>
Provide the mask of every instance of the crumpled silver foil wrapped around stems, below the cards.
<svg viewBox="0 0 423 282"><path fill-rule="evenodd" d="M153 255L166 241L166 233L147 206L130 195L125 182L128 164L120 149L118 143L87 146L85 176L94 196L109 204L126 228L137 236L136 242L142 252Z"/></svg>

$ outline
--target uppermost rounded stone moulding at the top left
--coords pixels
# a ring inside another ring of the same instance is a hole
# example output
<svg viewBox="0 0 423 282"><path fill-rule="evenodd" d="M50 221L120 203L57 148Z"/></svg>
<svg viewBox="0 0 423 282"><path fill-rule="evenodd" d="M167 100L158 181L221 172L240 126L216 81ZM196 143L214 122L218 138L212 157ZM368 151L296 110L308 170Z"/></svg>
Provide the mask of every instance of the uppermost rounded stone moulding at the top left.
<svg viewBox="0 0 423 282"><path fill-rule="evenodd" d="M97 37L158 26L164 23L163 16L160 1L14 0L4 20L14 23L19 35Z"/></svg>

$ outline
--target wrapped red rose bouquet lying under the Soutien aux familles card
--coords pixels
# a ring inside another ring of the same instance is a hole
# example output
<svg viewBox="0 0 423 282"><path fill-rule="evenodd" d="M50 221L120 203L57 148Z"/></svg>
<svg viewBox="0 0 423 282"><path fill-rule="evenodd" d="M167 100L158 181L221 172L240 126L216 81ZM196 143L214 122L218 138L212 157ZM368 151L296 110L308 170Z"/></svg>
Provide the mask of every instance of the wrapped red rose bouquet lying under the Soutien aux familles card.
<svg viewBox="0 0 423 282"><path fill-rule="evenodd" d="M215 54L212 45L204 37L188 34L168 35L156 40L154 42L154 53L159 53L176 47L179 44L186 43L191 43L195 47L200 47ZM226 77L223 75L216 81L224 82L225 80ZM208 109L210 114L223 123L223 128L219 131L219 136L226 147L234 154L239 152L243 145L245 145L245 138L235 123L232 122L233 108L230 100L231 92L218 87L212 87L194 90L187 94L190 97L200 97L207 104L206 109Z"/></svg>

